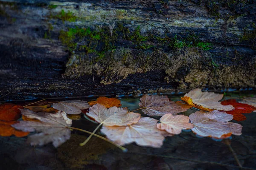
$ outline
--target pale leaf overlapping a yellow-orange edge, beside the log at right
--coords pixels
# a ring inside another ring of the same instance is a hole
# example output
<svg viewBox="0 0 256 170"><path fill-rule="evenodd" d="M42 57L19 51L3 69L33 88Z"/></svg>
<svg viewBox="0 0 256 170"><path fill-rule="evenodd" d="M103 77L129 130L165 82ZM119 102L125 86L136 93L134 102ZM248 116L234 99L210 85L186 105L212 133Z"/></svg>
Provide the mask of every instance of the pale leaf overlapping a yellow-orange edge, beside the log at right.
<svg viewBox="0 0 256 170"><path fill-rule="evenodd" d="M204 111L230 111L234 109L232 105L221 105L221 102L218 101L221 100L222 97L223 94L215 94L207 91L202 92L200 88L196 88L195 90L189 91L184 97L181 97L181 100L194 108Z"/></svg>

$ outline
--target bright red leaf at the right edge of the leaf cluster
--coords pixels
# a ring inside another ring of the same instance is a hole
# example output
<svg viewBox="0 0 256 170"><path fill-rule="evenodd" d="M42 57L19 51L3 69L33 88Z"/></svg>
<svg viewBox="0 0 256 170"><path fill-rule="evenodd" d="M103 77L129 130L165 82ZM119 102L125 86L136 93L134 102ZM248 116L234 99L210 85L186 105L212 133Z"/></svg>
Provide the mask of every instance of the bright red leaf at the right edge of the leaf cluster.
<svg viewBox="0 0 256 170"><path fill-rule="evenodd" d="M232 114L233 120L242 121L246 120L246 117L242 113L252 113L256 108L244 103L236 102L236 99L228 99L221 102L221 105L232 105L235 109L232 111L225 111L228 114Z"/></svg>

